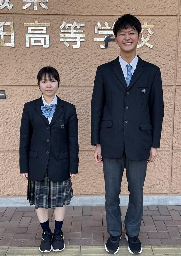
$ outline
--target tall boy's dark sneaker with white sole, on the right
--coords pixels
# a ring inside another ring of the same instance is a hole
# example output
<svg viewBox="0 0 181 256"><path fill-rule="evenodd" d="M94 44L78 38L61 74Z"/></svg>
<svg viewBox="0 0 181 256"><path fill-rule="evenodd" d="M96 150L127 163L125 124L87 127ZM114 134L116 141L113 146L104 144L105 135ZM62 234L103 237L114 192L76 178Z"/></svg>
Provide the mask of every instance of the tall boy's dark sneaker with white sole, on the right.
<svg viewBox="0 0 181 256"><path fill-rule="evenodd" d="M141 253L143 251L143 247L141 245L141 242L139 241L139 238L138 236L128 236L126 233L125 233L125 238L126 240L128 241L128 251L131 253L131 254L138 254L138 253Z"/></svg>

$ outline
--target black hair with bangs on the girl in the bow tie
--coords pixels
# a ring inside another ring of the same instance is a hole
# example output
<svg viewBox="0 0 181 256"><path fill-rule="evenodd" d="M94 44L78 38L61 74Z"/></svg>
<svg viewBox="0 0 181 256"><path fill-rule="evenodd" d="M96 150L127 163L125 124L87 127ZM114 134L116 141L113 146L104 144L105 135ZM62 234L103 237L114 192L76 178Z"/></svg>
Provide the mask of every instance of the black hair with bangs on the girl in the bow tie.
<svg viewBox="0 0 181 256"><path fill-rule="evenodd" d="M55 80L57 80L58 83L60 82L60 76L58 71L53 67L47 66L47 67L41 68L38 72L37 80L38 80L39 87L40 87L40 81L42 80L43 77L46 79L46 76L48 76L49 80L54 78Z"/></svg>

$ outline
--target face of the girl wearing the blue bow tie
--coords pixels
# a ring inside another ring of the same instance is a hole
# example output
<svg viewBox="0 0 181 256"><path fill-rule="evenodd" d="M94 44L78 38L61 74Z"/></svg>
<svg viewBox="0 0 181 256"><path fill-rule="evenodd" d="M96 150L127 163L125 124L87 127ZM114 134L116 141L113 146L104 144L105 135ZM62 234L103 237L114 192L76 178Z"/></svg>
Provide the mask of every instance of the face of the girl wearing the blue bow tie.
<svg viewBox="0 0 181 256"><path fill-rule="evenodd" d="M43 95L47 97L53 97L55 96L58 88L59 88L59 82L51 77L43 76L39 83L40 91L43 92Z"/></svg>

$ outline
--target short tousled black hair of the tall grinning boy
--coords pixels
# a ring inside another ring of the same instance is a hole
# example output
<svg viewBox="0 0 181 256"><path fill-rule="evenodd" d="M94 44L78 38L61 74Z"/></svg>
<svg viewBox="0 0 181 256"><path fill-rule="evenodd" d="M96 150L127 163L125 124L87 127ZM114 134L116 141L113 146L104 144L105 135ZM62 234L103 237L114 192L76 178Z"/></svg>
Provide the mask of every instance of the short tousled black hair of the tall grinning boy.
<svg viewBox="0 0 181 256"><path fill-rule="evenodd" d="M117 33L119 30L128 29L130 27L137 30L138 34L141 32L141 23L137 19L137 17L135 17L130 13L122 15L116 20L114 24L114 28L113 28L114 36L117 36Z"/></svg>

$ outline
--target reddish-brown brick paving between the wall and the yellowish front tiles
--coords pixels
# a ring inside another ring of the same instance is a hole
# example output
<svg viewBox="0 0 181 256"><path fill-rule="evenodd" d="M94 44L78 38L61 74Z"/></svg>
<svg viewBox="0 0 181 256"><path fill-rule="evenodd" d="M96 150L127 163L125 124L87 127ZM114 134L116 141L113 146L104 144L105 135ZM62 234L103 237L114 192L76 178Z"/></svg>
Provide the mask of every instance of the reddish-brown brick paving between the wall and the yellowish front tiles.
<svg viewBox="0 0 181 256"><path fill-rule="evenodd" d="M122 222L127 207L121 206ZM53 231L53 211L49 223ZM104 206L67 206L63 223L66 245L104 245ZM124 228L120 245L127 245ZM34 207L0 207L0 247L39 246L42 229ZM143 245L181 245L181 206L144 206L139 238Z"/></svg>

